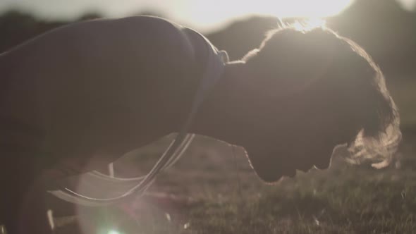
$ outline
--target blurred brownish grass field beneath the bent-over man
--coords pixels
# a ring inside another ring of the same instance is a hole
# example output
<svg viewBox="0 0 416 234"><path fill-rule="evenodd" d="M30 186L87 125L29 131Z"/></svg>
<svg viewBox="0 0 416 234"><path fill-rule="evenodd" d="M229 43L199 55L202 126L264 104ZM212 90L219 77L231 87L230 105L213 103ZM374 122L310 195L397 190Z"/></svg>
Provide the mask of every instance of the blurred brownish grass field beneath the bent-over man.
<svg viewBox="0 0 416 234"><path fill-rule="evenodd" d="M138 199L128 206L134 218L118 207L87 212L82 222L100 234L416 232L416 138L405 137L388 168L351 166L335 157L329 170L298 173L276 185L257 179L241 149L197 141L150 191L192 202ZM74 233L71 225L58 230Z"/></svg>

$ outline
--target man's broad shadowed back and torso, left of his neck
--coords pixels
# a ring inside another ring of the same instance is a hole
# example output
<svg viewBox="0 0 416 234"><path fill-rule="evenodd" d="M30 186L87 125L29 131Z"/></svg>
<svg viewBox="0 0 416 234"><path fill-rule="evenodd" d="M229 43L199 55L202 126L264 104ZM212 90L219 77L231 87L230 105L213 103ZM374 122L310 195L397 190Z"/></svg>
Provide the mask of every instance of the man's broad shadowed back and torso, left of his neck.
<svg viewBox="0 0 416 234"><path fill-rule="evenodd" d="M161 18L60 27L1 55L10 70L2 121L37 130L23 144L51 154L50 166L104 166L181 127L202 73L195 50L188 29Z"/></svg>

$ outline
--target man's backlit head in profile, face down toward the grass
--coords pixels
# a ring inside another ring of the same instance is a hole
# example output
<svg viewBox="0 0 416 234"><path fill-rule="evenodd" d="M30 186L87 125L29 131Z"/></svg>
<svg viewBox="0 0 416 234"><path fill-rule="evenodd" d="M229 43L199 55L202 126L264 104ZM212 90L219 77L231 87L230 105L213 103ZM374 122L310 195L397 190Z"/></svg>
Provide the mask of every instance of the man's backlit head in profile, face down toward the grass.
<svg viewBox="0 0 416 234"><path fill-rule="evenodd" d="M261 133L245 149L262 180L327 168L338 144L348 144L354 162L389 163L400 141L398 112L381 70L355 42L324 27L285 27L243 61Z"/></svg>

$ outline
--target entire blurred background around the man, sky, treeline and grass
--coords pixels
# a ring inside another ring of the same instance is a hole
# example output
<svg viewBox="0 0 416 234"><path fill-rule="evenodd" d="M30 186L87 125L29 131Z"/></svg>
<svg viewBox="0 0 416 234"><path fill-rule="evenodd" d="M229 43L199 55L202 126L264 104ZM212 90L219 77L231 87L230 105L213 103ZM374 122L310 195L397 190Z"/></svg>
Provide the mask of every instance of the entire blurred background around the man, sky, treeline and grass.
<svg viewBox="0 0 416 234"><path fill-rule="evenodd" d="M400 109L403 131L398 160L389 168L350 168L334 159L330 170L298 173L275 187L259 183L240 148L234 152L228 145L200 137L200 144L192 144L186 159L162 175L152 191L186 195L202 203L186 209L185 216L164 207L159 219L154 214L147 217L145 233L416 230L416 0L0 0L0 53L75 21L137 15L161 16L192 27L228 51L231 59L258 47L280 19L324 18L328 27L360 44L381 67ZM142 152L149 156L149 166L169 139ZM120 162L123 166L115 164L116 175L137 176L137 164L128 170L126 161L128 156ZM97 218L87 216L84 219L99 226ZM180 228L172 227L175 217L183 225ZM135 233L137 222L129 222L132 231L126 233Z"/></svg>

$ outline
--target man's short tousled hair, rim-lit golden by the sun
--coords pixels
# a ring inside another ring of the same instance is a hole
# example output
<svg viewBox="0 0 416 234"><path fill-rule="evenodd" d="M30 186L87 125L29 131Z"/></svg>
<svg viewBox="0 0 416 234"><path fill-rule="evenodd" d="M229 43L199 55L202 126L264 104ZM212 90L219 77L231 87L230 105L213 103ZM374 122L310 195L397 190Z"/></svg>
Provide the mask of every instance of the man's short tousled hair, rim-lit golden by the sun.
<svg viewBox="0 0 416 234"><path fill-rule="evenodd" d="M338 114L351 123L348 161L389 165L401 139L398 109L380 68L358 44L326 27L284 26L242 60L259 78L293 82L286 97L322 111L317 115Z"/></svg>

